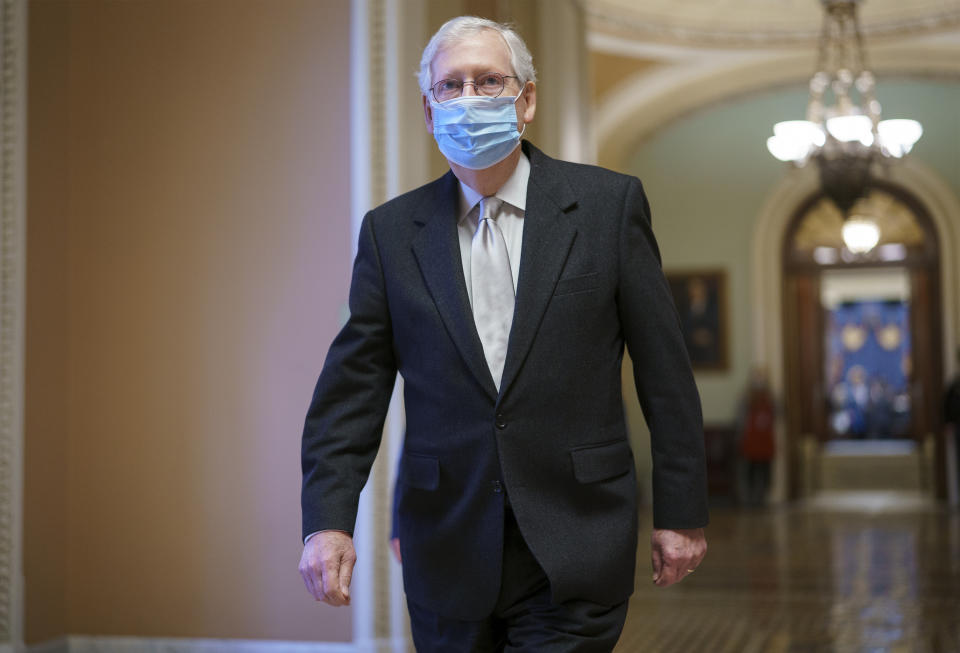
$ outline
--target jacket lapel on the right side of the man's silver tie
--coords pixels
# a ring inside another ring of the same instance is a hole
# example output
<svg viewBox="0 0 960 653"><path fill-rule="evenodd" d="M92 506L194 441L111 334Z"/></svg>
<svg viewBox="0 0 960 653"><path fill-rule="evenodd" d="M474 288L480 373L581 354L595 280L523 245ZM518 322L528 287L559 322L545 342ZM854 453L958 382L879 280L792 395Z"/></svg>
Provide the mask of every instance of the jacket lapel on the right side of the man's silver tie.
<svg viewBox="0 0 960 653"><path fill-rule="evenodd" d="M530 159L530 181L523 218L517 302L500 383L501 397L505 396L530 351L577 235L572 221L565 219L565 214L576 208L576 196L560 166L530 143L525 141L523 145Z"/></svg>

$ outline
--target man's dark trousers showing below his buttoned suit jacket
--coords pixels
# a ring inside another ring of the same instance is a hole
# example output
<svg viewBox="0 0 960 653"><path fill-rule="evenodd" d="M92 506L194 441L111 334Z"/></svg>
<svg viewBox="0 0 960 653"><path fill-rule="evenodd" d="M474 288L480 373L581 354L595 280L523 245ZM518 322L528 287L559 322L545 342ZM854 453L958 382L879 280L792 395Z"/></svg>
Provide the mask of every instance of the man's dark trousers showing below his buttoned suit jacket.
<svg viewBox="0 0 960 653"><path fill-rule="evenodd" d="M481 621L440 616L408 602L418 653L609 653L620 638L627 602L550 601L550 583L506 511L503 577L493 614ZM584 555L590 552L584 551Z"/></svg>

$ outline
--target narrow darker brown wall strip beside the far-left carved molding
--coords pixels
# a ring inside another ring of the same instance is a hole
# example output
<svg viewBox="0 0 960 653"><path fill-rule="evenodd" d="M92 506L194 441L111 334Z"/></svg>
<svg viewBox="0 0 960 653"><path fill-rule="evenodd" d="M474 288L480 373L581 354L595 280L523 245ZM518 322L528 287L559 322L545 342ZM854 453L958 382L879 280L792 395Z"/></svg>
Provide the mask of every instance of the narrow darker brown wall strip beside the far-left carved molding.
<svg viewBox="0 0 960 653"><path fill-rule="evenodd" d="M67 43L62 4L30 5L24 568L27 634L66 632ZM42 29L36 27L42 26Z"/></svg>

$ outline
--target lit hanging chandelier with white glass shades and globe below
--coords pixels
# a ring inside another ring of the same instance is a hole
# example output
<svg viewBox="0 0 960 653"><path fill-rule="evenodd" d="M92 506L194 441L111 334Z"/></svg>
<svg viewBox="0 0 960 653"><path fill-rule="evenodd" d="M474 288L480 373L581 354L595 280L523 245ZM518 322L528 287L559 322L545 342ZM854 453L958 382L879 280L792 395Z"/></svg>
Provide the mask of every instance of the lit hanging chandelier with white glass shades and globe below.
<svg viewBox="0 0 960 653"><path fill-rule="evenodd" d="M848 221L856 218L855 228L844 229L845 240L847 233L869 234L867 241L847 242L853 252L869 251L879 238L875 224L864 228L872 222L869 218L850 215L866 194L874 169L906 155L923 133L916 120L880 119L876 80L867 69L857 20L860 1L821 0L823 30L807 119L778 122L767 139L767 149L781 161L797 167L816 161L824 193Z"/></svg>

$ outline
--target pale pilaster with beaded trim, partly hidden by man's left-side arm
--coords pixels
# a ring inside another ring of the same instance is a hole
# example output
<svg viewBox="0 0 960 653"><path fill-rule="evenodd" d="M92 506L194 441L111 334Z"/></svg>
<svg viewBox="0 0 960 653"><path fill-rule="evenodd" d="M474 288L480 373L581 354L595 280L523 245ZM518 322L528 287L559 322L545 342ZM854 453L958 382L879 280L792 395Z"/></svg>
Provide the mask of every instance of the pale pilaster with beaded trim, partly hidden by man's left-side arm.
<svg viewBox="0 0 960 653"><path fill-rule="evenodd" d="M428 137L414 73L425 44L423 0L352 0L351 223L356 245L364 214L427 181ZM353 641L361 651L409 646L400 566L389 550L393 486L403 444L398 379L383 442L360 496L355 545Z"/></svg>

